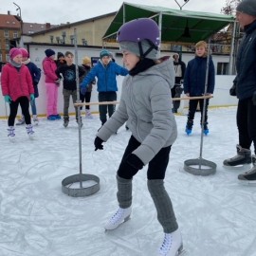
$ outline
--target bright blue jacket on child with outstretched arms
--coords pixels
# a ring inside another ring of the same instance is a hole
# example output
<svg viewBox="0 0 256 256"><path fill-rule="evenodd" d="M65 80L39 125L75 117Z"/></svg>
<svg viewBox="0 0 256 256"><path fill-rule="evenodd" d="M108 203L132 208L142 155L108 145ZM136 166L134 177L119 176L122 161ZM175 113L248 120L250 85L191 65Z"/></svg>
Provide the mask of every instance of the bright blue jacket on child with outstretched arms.
<svg viewBox="0 0 256 256"><path fill-rule="evenodd" d="M96 64L91 71L86 75L80 84L81 88L85 88L97 77L98 92L116 92L118 91L117 75L126 76L128 70L119 64L109 62L106 66L101 63L101 60Z"/></svg>

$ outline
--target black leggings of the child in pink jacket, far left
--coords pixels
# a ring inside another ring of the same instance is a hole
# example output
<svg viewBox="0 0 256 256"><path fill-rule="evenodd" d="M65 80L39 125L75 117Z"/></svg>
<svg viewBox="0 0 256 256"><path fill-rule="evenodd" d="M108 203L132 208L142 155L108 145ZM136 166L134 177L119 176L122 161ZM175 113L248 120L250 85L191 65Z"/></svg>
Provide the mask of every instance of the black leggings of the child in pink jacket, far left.
<svg viewBox="0 0 256 256"><path fill-rule="evenodd" d="M14 125L14 122L15 122L15 119L17 116L17 112L18 112L19 104L21 105L22 114L24 115L26 124L31 123L31 118L30 118L30 114L29 114L29 100L27 99L26 96L23 96L23 97L18 98L16 101L11 101L9 103L9 119L8 119L9 126Z"/></svg>

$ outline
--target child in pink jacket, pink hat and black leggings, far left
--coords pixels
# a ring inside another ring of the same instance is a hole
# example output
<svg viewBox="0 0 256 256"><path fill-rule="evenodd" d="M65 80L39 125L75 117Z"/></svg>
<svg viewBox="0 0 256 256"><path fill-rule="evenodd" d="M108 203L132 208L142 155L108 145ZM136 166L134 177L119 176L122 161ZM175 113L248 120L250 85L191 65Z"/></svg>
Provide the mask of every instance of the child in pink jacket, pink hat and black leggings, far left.
<svg viewBox="0 0 256 256"><path fill-rule="evenodd" d="M15 137L14 121L19 104L25 116L27 135L33 136L29 101L34 101L34 87L27 66L22 64L22 51L19 48L11 48L9 51L9 63L2 68L1 86L5 101L9 103L8 137Z"/></svg>

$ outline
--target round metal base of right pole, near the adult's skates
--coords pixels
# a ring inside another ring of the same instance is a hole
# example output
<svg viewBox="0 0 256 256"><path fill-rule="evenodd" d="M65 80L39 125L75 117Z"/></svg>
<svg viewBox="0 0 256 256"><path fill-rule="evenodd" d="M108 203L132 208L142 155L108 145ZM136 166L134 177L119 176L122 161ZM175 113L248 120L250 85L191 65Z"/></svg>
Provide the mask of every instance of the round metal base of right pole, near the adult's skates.
<svg viewBox="0 0 256 256"><path fill-rule="evenodd" d="M216 173L217 165L204 158L188 159L184 161L184 171L194 175L207 176Z"/></svg>

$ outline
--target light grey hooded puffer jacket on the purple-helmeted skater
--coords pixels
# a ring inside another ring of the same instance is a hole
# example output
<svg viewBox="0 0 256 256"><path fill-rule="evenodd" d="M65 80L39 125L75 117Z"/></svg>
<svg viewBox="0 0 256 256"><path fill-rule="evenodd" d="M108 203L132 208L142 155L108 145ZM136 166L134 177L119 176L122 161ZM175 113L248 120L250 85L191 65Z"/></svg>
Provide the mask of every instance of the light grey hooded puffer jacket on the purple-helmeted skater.
<svg viewBox="0 0 256 256"><path fill-rule="evenodd" d="M170 60L155 64L134 77L126 76L119 107L97 136L107 141L127 121L132 135L141 143L133 154L146 165L161 148L172 145L177 137L172 112L173 87L174 64Z"/></svg>

